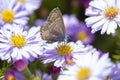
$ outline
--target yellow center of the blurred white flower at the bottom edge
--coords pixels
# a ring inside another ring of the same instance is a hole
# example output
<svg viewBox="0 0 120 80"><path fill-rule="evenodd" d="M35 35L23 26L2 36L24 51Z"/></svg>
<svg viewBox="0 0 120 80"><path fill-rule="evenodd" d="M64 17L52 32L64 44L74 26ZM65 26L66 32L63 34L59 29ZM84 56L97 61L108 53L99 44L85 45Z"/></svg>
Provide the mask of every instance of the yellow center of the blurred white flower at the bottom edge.
<svg viewBox="0 0 120 80"><path fill-rule="evenodd" d="M89 68L81 68L79 71L78 71L78 74L77 74L77 79L78 80L88 80L89 77L90 77L90 69Z"/></svg>

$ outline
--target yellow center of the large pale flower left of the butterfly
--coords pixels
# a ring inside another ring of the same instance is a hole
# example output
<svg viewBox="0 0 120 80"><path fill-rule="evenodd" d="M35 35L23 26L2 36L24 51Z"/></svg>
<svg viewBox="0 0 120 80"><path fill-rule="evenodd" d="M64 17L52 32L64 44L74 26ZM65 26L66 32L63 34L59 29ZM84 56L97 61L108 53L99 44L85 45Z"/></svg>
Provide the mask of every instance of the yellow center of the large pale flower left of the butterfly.
<svg viewBox="0 0 120 80"><path fill-rule="evenodd" d="M14 47L21 48L26 45L26 39L22 35L12 35L10 41Z"/></svg>

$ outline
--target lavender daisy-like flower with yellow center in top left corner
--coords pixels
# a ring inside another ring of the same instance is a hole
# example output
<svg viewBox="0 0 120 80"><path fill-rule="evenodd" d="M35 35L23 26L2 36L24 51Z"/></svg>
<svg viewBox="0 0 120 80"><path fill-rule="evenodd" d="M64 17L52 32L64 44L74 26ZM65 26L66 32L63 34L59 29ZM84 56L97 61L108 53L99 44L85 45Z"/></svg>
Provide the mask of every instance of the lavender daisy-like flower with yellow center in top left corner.
<svg viewBox="0 0 120 80"><path fill-rule="evenodd" d="M25 25L29 18L27 11L15 0L0 0L0 25L15 23Z"/></svg>

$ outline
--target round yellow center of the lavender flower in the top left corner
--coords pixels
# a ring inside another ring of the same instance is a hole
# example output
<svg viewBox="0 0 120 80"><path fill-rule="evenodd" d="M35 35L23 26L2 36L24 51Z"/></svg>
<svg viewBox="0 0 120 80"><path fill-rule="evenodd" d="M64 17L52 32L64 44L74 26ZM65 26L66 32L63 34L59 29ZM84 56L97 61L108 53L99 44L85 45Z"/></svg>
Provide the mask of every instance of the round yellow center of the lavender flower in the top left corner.
<svg viewBox="0 0 120 80"><path fill-rule="evenodd" d="M14 13L11 10L5 9L2 11L1 17L4 22L11 23L13 22L13 19L14 19Z"/></svg>

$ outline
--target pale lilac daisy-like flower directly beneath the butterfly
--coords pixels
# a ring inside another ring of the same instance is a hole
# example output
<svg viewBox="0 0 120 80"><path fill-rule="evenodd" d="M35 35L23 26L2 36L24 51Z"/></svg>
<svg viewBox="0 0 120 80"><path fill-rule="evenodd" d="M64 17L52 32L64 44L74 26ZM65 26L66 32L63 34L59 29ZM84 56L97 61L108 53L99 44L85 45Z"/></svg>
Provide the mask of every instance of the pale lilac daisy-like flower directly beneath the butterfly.
<svg viewBox="0 0 120 80"><path fill-rule="evenodd" d="M72 64L74 59L80 54L87 54L89 48L85 47L81 41L74 42L54 42L44 46L45 51L41 55L43 63L55 61L54 65L63 67L65 64ZM70 58L69 56L72 56Z"/></svg>

